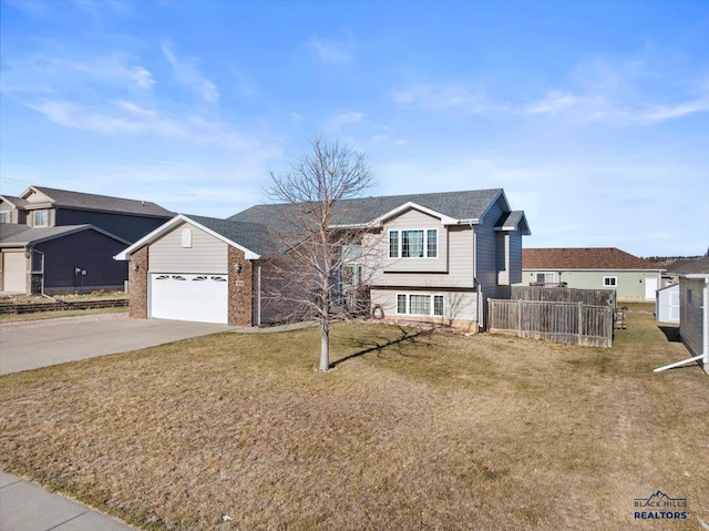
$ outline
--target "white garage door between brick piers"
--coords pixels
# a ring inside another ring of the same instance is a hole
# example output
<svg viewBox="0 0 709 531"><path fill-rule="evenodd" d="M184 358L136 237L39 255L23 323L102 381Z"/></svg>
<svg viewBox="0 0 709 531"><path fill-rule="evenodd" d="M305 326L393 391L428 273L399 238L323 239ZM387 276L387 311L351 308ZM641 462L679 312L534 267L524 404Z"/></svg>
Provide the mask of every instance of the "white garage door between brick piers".
<svg viewBox="0 0 709 531"><path fill-rule="evenodd" d="M227 323L226 275L151 275L150 316L158 319Z"/></svg>

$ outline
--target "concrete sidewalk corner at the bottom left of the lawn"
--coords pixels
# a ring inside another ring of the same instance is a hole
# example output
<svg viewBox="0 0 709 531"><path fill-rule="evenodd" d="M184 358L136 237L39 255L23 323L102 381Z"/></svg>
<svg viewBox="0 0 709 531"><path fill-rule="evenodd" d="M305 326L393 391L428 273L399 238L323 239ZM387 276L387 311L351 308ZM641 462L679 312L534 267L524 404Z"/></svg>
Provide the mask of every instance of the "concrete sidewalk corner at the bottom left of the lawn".
<svg viewBox="0 0 709 531"><path fill-rule="evenodd" d="M2 531L133 531L111 517L0 471Z"/></svg>

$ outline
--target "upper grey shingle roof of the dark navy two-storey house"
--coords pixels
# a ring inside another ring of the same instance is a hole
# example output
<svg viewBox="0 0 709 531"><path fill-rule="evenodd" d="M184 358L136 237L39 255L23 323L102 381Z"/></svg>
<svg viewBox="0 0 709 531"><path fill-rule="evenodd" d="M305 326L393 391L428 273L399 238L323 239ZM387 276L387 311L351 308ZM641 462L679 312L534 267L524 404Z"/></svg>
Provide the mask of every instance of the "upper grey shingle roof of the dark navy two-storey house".
<svg viewBox="0 0 709 531"><path fill-rule="evenodd" d="M150 201L127 200L124 197L112 197L109 195L84 194L82 192L71 192L68 190L48 188L45 186L31 186L31 188L49 196L55 206L66 208L81 208L89 211L116 212L121 214L133 214L143 216L157 216L169 218L175 215L162 206ZM24 206L31 206L28 202Z"/></svg>

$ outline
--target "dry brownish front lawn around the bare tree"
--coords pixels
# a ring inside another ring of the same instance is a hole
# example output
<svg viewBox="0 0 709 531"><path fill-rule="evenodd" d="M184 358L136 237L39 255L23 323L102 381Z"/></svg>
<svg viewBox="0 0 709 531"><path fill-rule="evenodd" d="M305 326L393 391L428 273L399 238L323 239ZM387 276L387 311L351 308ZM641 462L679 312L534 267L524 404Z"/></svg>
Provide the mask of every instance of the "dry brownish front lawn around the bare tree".
<svg viewBox="0 0 709 531"><path fill-rule="evenodd" d="M9 375L0 466L142 529L700 529L709 376L654 374L677 330L627 320L612 349L358 324L328 374L302 329ZM658 489L687 520L634 520Z"/></svg>

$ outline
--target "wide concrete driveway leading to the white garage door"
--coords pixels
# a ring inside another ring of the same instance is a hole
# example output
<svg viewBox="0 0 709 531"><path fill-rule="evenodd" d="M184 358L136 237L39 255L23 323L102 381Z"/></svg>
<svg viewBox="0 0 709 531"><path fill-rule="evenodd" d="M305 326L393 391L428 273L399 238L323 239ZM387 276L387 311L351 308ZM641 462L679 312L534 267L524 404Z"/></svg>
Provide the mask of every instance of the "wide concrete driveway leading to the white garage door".
<svg viewBox="0 0 709 531"><path fill-rule="evenodd" d="M0 325L0 375L235 329L206 323L130 319L127 314L7 323Z"/></svg>

